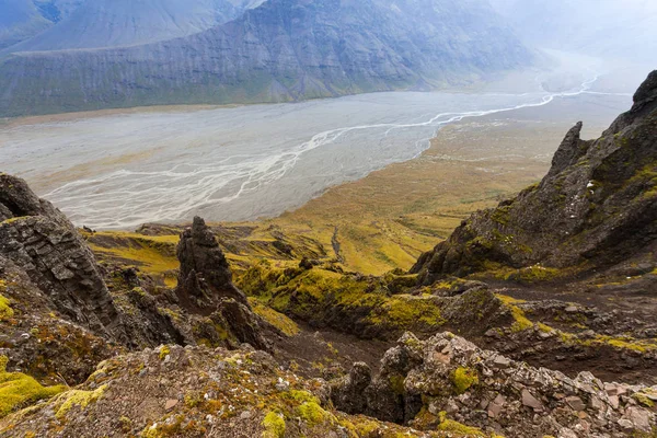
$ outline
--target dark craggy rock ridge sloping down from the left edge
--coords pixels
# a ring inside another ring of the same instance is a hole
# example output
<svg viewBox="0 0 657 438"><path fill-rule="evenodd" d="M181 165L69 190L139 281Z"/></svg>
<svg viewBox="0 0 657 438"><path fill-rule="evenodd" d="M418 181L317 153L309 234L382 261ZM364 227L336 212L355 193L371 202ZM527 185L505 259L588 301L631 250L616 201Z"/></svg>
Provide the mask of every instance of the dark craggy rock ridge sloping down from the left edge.
<svg viewBox="0 0 657 438"><path fill-rule="evenodd" d="M24 270L70 321L125 339L91 250L72 223L18 177L0 175L0 256Z"/></svg>

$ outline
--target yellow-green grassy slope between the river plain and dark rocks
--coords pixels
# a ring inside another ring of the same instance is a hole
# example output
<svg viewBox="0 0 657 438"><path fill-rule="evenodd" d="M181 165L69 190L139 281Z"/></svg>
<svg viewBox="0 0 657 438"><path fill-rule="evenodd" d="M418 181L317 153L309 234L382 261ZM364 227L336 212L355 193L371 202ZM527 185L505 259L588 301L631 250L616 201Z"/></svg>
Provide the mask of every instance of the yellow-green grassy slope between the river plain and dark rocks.
<svg viewBox="0 0 657 438"><path fill-rule="evenodd" d="M562 131L528 134L516 123L451 126L420 158L331 188L296 211L219 224L220 242L238 274L263 258L293 265L302 256L368 275L407 269L470 214L538 181ZM507 152L511 148L514 154ZM159 237L102 232L91 244L101 260L134 261L166 276L177 266L180 230L158 229ZM273 246L276 240L289 244L291 255Z"/></svg>

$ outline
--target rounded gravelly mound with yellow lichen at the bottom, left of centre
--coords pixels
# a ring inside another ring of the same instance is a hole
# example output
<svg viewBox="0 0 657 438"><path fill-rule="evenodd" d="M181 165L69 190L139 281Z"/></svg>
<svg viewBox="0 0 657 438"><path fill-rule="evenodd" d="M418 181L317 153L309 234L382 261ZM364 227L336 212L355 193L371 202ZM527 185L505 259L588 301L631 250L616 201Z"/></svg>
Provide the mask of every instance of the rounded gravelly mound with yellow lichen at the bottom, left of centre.
<svg viewBox="0 0 657 438"><path fill-rule="evenodd" d="M100 364L84 384L0 419L0 436L470 437L346 415L325 387L252 348L161 346Z"/></svg>

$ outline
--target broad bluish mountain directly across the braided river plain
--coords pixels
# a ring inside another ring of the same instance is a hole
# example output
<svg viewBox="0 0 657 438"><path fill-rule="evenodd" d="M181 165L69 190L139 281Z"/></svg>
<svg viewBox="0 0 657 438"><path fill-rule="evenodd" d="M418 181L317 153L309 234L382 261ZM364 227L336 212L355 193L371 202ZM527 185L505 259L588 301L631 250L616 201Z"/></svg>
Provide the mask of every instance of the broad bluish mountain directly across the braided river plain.
<svg viewBox="0 0 657 438"><path fill-rule="evenodd" d="M0 114L426 89L531 59L483 0L269 0L177 39L7 56Z"/></svg>

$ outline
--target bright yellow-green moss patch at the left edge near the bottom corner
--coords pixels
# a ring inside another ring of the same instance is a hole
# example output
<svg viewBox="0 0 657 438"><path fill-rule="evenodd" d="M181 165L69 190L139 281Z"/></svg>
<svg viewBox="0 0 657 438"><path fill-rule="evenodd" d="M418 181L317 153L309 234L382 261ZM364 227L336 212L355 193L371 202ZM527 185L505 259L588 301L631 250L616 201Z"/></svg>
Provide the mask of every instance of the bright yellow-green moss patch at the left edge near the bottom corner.
<svg viewBox="0 0 657 438"><path fill-rule="evenodd" d="M66 387L43 387L34 378L22 372L7 372L8 358L0 356L0 418L16 408L39 400L49 399Z"/></svg>

